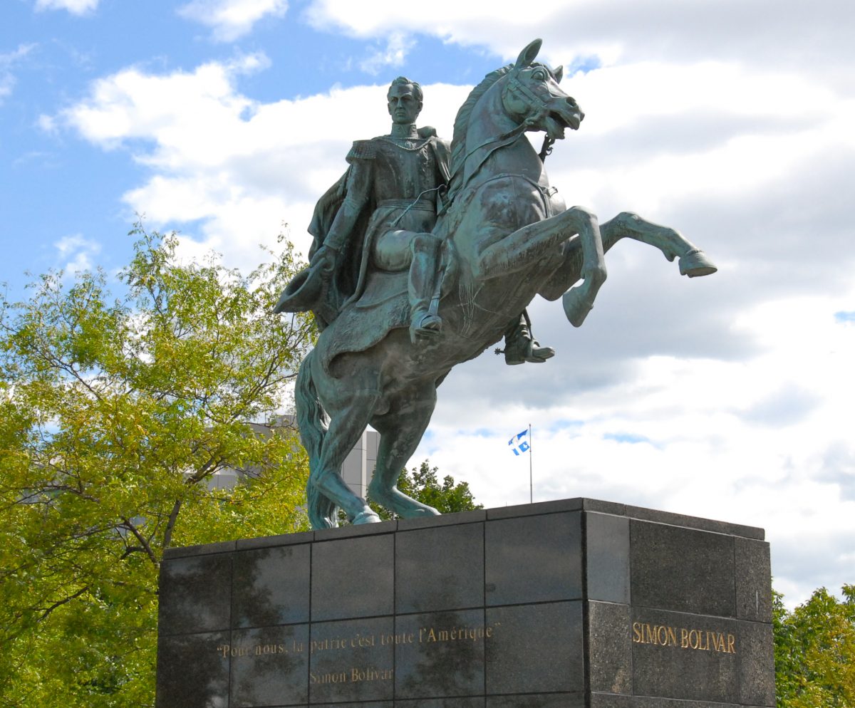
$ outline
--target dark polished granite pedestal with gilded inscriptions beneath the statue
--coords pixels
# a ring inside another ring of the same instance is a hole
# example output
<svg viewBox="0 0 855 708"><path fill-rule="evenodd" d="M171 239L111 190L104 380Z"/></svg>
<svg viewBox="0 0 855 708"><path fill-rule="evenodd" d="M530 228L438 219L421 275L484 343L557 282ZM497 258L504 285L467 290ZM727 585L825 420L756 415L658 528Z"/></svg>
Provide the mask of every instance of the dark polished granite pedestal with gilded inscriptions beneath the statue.
<svg viewBox="0 0 855 708"><path fill-rule="evenodd" d="M567 499L174 549L156 705L773 706L763 539Z"/></svg>

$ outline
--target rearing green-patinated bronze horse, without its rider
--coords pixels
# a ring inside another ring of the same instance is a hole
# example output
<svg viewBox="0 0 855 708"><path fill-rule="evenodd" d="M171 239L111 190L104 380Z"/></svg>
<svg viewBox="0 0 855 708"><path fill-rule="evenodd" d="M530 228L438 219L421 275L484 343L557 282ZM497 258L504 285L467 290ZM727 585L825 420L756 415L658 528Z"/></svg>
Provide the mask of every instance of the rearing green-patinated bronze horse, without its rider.
<svg viewBox="0 0 855 708"><path fill-rule="evenodd" d="M406 272L374 273L363 300L345 307L300 367L297 416L310 457L313 528L336 526L339 507L351 523L380 520L340 473L369 424L380 434L371 498L399 516L439 513L396 487L428 428L437 386L455 364L501 339L536 294L563 298L565 314L579 327L605 280L604 253L618 240L653 245L669 261L679 257L681 274L690 277L716 271L671 228L628 212L598 225L587 209L564 208L524 133L562 139L584 115L559 88L561 69L534 62L539 50L535 40L516 63L487 74L457 113L451 203L434 229L445 241L442 332L427 345L413 345ZM352 345L360 331L377 335Z"/></svg>

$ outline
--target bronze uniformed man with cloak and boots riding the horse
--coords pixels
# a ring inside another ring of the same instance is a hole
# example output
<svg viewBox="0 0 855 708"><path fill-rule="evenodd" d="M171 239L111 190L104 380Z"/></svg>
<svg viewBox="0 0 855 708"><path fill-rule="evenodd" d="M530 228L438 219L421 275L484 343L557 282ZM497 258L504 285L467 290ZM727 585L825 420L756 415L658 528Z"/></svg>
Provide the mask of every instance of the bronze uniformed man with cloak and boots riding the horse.
<svg viewBox="0 0 855 708"><path fill-rule="evenodd" d="M408 270L410 339L420 344L442 328L443 243L431 232L445 205L449 146L433 128L416 128L422 87L415 81L392 81L387 100L392 133L353 144L347 172L315 207L310 267L286 289L276 311L298 309L308 295L322 329L363 294L369 268ZM540 363L555 353L534 341L524 311L509 323L505 343L509 364Z"/></svg>

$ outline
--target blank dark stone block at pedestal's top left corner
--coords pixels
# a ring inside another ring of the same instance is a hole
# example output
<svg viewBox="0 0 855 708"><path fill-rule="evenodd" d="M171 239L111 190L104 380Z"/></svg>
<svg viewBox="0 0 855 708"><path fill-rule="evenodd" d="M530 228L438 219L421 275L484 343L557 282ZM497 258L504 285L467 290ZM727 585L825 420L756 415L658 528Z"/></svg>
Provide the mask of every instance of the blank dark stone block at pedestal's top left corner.
<svg viewBox="0 0 855 708"><path fill-rule="evenodd" d="M163 561L157 621L161 636L228 629L231 586L231 555Z"/></svg>

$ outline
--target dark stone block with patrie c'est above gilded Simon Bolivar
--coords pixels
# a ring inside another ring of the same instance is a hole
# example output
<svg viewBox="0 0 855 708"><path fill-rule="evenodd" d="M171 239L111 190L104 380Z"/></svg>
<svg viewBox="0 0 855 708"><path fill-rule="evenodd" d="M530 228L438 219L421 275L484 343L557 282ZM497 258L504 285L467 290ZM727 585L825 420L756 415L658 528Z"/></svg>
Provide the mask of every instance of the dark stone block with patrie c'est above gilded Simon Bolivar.
<svg viewBox="0 0 855 708"><path fill-rule="evenodd" d="M394 619L314 622L310 641L310 703L391 700Z"/></svg>

